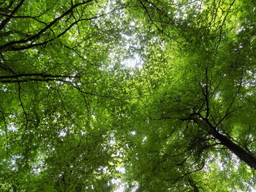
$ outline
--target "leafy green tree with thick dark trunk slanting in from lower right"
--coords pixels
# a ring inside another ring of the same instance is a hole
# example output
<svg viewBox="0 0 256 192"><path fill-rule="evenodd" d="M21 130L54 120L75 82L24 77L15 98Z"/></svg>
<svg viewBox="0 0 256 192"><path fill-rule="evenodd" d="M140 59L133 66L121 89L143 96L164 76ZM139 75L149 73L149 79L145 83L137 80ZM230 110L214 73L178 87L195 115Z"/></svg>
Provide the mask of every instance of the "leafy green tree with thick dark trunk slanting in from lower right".
<svg viewBox="0 0 256 192"><path fill-rule="evenodd" d="M181 4L169 26L156 23L157 6L144 7L163 46L148 55L140 80L152 96L132 117L140 123L131 126L138 134L127 147L127 181L138 191L248 191L255 183L255 17L247 15L255 5L247 3ZM221 170L217 179L212 169Z"/></svg>

